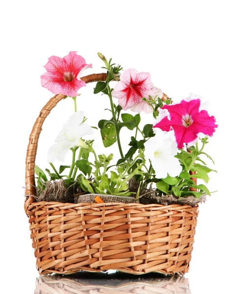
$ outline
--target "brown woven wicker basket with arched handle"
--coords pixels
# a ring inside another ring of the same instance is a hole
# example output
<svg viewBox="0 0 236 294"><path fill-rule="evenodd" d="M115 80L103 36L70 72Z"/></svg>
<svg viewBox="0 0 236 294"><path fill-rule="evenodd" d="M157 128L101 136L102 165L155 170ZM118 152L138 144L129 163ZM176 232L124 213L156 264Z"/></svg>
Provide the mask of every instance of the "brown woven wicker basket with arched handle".
<svg viewBox="0 0 236 294"><path fill-rule="evenodd" d="M105 80L106 74L82 78ZM26 198L32 246L40 274L79 270L185 273L189 270L198 206L140 203L35 202L35 157L42 125L56 104L55 95L41 110L29 137Z"/></svg>

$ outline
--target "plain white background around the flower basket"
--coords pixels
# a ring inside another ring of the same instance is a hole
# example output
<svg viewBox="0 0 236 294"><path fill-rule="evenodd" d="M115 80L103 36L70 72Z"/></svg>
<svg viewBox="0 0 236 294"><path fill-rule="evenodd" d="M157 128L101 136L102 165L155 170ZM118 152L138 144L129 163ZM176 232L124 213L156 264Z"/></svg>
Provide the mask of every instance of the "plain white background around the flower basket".
<svg viewBox="0 0 236 294"><path fill-rule="evenodd" d="M85 74L103 71L96 56L100 51L124 69L150 72L153 83L175 101L190 92L210 101L219 127L207 146L218 170L209 187L218 192L200 205L186 277L192 294L234 292L232 278L227 277L236 263L234 1L9 0L0 11L0 279L2 287L8 285L4 293L30 294L35 288L38 272L23 208L25 153L31 127L53 96L41 87L43 66L49 56L63 57L71 50L93 64ZM109 106L107 98L93 95L93 85L80 93L79 109L85 110L89 123L109 117L103 111ZM46 168L47 149L72 111L72 101L66 99L45 122L36 161L41 168ZM96 146L99 153L109 152Z"/></svg>

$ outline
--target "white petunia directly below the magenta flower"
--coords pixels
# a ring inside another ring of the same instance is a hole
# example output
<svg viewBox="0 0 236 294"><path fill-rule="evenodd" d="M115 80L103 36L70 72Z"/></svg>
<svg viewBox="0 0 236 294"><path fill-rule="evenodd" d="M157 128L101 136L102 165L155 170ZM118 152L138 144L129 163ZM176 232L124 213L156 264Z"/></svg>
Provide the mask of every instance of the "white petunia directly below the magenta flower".
<svg viewBox="0 0 236 294"><path fill-rule="evenodd" d="M145 146L145 156L151 160L152 167L158 179L178 176L182 172L180 162L174 156L178 152L174 131L165 133L160 128L154 128L155 137L149 139Z"/></svg>

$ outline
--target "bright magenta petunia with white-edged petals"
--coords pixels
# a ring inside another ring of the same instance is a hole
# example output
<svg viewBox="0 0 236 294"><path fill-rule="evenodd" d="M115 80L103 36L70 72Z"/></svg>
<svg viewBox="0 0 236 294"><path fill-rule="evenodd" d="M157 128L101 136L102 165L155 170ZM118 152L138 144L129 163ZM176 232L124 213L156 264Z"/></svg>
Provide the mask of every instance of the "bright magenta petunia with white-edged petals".
<svg viewBox="0 0 236 294"><path fill-rule="evenodd" d="M215 118L203 109L200 98L192 94L178 104L162 107L153 125L167 132L173 129L178 148L185 143L194 144L202 134L212 136L217 126Z"/></svg>

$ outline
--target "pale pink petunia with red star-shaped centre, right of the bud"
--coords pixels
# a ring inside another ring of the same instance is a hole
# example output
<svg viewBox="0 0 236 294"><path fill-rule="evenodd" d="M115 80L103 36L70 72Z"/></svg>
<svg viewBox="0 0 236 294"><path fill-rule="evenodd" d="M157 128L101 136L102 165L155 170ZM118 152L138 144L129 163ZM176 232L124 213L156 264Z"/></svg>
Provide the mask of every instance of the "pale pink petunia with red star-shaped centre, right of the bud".
<svg viewBox="0 0 236 294"><path fill-rule="evenodd" d="M119 99L118 103L124 110L151 113L152 108L142 98L154 96L152 85L150 73L138 73L135 69L129 69L120 75L112 96Z"/></svg>

